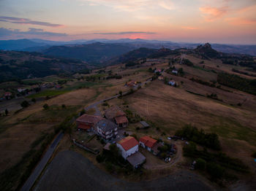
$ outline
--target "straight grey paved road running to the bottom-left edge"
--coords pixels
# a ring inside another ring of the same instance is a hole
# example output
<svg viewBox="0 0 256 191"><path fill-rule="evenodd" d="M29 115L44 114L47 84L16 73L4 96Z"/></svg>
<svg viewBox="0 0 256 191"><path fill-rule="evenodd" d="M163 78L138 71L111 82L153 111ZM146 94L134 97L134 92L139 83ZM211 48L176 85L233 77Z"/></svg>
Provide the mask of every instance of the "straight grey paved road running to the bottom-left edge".
<svg viewBox="0 0 256 191"><path fill-rule="evenodd" d="M29 191L33 186L34 182L37 180L38 176L41 174L42 170L45 168L45 165L48 163L48 160L53 155L54 150L56 149L59 141L61 141L63 133L59 133L53 143L50 145L48 151L42 157L42 160L38 163L37 167L34 169L33 173L29 176L29 179L26 180L25 184L20 191Z"/></svg>

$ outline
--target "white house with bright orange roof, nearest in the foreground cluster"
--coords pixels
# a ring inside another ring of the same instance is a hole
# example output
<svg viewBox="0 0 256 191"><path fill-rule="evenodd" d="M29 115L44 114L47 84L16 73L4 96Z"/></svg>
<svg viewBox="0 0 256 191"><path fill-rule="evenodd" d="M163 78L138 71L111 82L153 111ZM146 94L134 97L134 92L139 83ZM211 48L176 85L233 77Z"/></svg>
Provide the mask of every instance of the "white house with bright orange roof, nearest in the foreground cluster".
<svg viewBox="0 0 256 191"><path fill-rule="evenodd" d="M124 159L127 159L127 157L134 154L135 152L138 152L139 150L139 143L132 136L127 136L126 138L121 139L121 141L118 141L116 146L120 150L121 155L122 157L124 157Z"/></svg>

